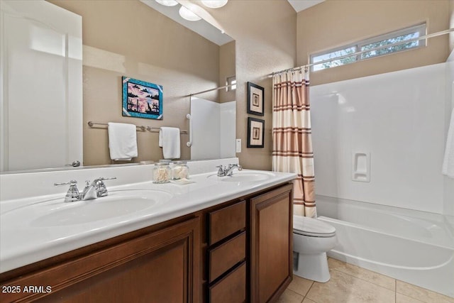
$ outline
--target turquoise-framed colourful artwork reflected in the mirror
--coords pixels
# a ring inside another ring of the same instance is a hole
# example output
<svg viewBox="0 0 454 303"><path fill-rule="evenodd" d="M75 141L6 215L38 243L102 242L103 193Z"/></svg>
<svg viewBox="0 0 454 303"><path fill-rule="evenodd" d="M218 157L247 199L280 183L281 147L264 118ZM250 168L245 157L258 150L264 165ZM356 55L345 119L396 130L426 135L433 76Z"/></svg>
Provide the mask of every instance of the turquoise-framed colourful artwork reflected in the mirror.
<svg viewBox="0 0 454 303"><path fill-rule="evenodd" d="M162 120L162 86L122 77L122 115Z"/></svg>

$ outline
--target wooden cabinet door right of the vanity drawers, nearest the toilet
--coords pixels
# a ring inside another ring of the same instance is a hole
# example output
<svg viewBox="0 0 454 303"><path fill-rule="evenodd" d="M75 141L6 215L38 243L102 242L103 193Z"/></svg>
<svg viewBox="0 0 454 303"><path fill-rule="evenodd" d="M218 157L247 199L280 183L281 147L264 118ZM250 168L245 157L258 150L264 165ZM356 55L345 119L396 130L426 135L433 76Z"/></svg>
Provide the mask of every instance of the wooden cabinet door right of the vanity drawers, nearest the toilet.
<svg viewBox="0 0 454 303"><path fill-rule="evenodd" d="M250 200L250 302L273 302L292 281L292 184Z"/></svg>

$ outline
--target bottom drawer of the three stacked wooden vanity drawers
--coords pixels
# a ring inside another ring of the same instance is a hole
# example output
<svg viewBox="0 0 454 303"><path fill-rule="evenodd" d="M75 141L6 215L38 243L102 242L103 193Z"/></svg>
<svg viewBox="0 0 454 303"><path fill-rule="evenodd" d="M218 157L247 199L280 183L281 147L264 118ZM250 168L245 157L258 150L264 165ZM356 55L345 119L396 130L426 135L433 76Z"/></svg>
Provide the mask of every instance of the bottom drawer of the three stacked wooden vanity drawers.
<svg viewBox="0 0 454 303"><path fill-rule="evenodd" d="M246 301L246 263L209 287L209 302L243 303Z"/></svg>

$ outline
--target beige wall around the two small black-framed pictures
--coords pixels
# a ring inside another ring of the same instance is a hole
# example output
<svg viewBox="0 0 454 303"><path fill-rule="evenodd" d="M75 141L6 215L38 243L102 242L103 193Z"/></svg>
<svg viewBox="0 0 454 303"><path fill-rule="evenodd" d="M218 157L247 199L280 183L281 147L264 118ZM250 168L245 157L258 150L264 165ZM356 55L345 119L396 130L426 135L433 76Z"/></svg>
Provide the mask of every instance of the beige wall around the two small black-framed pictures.
<svg viewBox="0 0 454 303"><path fill-rule="evenodd" d="M270 170L272 80L266 75L295 66L297 13L284 0L233 0L206 11L236 40L236 134L242 139L237 156L246 168ZM246 113L248 81L265 88L265 117ZM248 116L265 119L265 148L246 148Z"/></svg>

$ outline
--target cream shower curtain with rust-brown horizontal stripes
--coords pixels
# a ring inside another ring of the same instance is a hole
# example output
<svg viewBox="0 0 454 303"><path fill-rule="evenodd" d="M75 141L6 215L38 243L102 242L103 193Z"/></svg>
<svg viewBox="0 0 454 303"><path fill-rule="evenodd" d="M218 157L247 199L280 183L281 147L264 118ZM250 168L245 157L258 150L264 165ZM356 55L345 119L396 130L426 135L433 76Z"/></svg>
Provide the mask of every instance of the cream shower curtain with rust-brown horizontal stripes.
<svg viewBox="0 0 454 303"><path fill-rule="evenodd" d="M294 180L294 214L315 218L309 72L274 75L272 102L272 170L298 174Z"/></svg>

